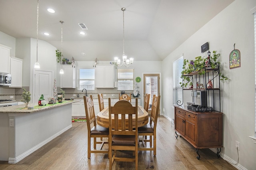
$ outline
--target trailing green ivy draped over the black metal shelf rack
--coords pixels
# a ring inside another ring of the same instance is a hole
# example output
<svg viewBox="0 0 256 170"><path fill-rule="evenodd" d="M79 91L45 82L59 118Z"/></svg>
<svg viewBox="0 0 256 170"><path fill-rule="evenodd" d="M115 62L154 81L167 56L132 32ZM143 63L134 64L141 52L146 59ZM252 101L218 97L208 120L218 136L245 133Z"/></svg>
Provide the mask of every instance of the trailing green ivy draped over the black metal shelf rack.
<svg viewBox="0 0 256 170"><path fill-rule="evenodd" d="M220 53L216 53L216 51L212 51L212 55L210 56L210 63L209 66L212 69L215 69L218 67L220 62L218 61ZM203 75L205 73L205 62L208 59L208 57L203 58L201 56L195 57L195 60L184 59L183 61L183 71L181 72L181 78L183 79L183 82L180 82L181 87L187 87L188 85L192 86L192 76L184 76L186 74L192 73L194 71L198 71L199 75ZM218 64L217 64L218 63ZM228 80L228 77L222 75L221 72L219 72L220 75L220 81L223 83Z"/></svg>

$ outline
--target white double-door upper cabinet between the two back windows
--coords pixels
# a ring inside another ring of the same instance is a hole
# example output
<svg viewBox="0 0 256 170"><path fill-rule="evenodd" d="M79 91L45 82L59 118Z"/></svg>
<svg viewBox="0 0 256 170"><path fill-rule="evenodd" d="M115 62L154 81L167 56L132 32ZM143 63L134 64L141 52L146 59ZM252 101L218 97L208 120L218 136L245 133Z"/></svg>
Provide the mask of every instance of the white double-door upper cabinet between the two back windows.
<svg viewBox="0 0 256 170"><path fill-rule="evenodd" d="M95 87L114 88L114 65L96 65Z"/></svg>

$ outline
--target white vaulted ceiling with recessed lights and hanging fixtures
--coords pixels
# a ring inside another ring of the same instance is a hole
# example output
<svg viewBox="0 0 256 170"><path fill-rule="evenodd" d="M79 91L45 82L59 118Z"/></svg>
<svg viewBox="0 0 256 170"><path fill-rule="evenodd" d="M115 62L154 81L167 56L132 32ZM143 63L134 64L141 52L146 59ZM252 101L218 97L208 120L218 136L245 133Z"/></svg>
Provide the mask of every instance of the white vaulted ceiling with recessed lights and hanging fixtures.
<svg viewBox="0 0 256 170"><path fill-rule="evenodd" d="M162 61L233 1L39 0L38 39L60 50L62 20L64 57L112 61L123 53L124 7L125 54L134 62ZM56 12L49 13L47 8ZM36 38L36 18L37 0L0 0L0 31L5 34ZM79 34L78 23L86 25L86 35Z"/></svg>

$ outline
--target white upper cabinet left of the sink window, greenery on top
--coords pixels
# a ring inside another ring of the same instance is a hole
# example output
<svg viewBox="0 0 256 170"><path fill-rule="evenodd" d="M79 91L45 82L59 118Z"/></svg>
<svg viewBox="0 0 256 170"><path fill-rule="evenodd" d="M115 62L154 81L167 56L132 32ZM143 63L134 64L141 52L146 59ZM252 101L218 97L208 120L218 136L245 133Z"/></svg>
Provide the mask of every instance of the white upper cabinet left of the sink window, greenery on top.
<svg viewBox="0 0 256 170"><path fill-rule="evenodd" d="M76 69L72 65L62 65L64 74L60 75L61 88L76 88Z"/></svg>

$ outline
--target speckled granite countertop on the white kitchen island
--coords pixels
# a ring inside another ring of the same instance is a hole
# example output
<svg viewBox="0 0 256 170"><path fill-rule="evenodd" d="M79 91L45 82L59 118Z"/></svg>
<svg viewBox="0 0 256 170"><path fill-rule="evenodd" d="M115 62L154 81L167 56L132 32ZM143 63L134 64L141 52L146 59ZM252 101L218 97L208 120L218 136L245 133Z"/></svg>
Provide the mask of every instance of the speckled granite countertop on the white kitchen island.
<svg viewBox="0 0 256 170"><path fill-rule="evenodd" d="M34 113L38 111L43 111L47 109L52 109L55 107L61 107L64 105L68 105L76 101L63 101L62 103L56 103L56 104L47 104L46 106L35 106L34 109L27 109L25 108L25 105L16 105L16 106L9 106L9 107L0 107L0 114L1 113Z"/></svg>

